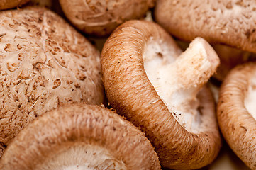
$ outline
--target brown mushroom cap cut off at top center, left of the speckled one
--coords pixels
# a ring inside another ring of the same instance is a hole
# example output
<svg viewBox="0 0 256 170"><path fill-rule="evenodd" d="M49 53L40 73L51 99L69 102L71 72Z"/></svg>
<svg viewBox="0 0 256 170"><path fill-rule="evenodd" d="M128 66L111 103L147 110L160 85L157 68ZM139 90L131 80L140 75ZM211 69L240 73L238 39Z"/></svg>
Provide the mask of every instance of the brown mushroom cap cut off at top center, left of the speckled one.
<svg viewBox="0 0 256 170"><path fill-rule="evenodd" d="M143 18L155 0L60 0L62 10L74 26L96 36L109 35L127 20Z"/></svg>

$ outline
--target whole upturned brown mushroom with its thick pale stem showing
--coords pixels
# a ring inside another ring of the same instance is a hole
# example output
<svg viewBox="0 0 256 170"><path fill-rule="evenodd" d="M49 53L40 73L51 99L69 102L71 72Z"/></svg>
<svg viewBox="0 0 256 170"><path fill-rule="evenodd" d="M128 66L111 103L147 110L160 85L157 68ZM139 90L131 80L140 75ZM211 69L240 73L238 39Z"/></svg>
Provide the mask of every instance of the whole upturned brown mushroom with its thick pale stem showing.
<svg viewBox="0 0 256 170"><path fill-rule="evenodd" d="M145 132L160 164L171 169L199 169L218 154L215 103L204 86L218 64L204 39L196 38L182 53L148 21L123 23L101 53L111 106Z"/></svg>

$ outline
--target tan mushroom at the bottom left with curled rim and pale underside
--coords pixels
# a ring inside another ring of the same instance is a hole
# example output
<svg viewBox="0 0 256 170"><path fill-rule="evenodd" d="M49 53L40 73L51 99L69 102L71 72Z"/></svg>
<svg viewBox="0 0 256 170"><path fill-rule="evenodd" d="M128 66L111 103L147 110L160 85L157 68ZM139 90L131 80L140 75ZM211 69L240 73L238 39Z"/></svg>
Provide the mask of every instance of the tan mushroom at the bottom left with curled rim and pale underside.
<svg viewBox="0 0 256 170"><path fill-rule="evenodd" d="M161 169L143 132L100 106L66 104L24 128L6 149L4 169Z"/></svg>

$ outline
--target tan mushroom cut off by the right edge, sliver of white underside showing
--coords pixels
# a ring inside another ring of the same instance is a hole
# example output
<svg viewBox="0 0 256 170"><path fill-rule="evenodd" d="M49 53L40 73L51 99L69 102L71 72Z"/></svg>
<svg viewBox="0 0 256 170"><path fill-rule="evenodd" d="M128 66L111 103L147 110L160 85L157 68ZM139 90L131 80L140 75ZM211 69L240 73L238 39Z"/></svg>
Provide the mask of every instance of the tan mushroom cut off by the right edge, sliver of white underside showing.
<svg viewBox="0 0 256 170"><path fill-rule="evenodd" d="M251 169L256 169L255 79L255 62L235 67L221 85L217 107L223 137Z"/></svg>

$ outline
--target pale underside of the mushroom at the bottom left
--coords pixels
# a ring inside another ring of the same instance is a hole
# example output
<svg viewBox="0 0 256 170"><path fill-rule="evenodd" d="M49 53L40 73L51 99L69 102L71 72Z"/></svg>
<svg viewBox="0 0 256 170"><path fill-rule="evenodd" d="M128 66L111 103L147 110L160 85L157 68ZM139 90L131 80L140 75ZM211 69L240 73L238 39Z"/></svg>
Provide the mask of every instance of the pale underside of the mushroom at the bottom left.
<svg viewBox="0 0 256 170"><path fill-rule="evenodd" d="M65 144L52 154L36 170L93 170L126 169L120 160L113 157L104 147L80 143Z"/></svg>

